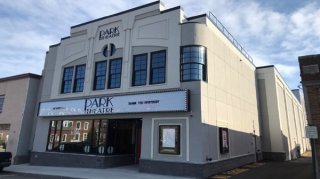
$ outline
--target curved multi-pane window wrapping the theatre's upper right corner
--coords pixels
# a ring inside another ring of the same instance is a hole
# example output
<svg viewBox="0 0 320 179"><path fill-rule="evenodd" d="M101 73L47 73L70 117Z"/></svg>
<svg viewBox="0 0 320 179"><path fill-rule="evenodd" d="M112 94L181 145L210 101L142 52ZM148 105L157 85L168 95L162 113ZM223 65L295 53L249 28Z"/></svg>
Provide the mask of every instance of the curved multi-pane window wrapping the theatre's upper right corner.
<svg viewBox="0 0 320 179"><path fill-rule="evenodd" d="M206 48L182 47L180 69L181 81L206 81Z"/></svg>

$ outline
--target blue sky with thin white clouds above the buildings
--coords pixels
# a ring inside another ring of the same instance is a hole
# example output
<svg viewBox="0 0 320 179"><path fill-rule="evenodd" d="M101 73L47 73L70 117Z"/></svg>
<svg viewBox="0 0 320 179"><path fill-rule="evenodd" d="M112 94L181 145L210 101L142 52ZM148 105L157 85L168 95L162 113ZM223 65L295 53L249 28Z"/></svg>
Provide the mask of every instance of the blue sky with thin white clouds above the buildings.
<svg viewBox="0 0 320 179"><path fill-rule="evenodd" d="M70 27L127 10L149 0L0 1L0 78L41 74L49 45L69 36ZM163 0L187 16L211 11L253 57L274 64L290 88L300 82L298 56L320 53L318 0Z"/></svg>

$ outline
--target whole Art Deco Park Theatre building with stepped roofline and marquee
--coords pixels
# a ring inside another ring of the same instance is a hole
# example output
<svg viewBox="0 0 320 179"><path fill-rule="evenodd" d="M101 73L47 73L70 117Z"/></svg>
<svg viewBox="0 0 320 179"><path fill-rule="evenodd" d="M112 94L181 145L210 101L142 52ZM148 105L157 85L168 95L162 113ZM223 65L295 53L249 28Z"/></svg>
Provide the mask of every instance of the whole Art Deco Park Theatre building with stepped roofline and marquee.
<svg viewBox="0 0 320 179"><path fill-rule="evenodd" d="M261 156L255 66L215 17L160 1L47 52L32 165L207 177Z"/></svg>

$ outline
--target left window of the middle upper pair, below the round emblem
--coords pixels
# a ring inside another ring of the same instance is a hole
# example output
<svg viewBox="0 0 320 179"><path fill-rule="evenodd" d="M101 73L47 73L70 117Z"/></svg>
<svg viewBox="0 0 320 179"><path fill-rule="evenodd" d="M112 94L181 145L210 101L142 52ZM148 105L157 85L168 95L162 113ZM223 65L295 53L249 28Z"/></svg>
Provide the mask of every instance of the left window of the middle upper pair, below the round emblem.
<svg viewBox="0 0 320 179"><path fill-rule="evenodd" d="M102 90L106 83L107 61L97 62L94 77L94 90Z"/></svg>

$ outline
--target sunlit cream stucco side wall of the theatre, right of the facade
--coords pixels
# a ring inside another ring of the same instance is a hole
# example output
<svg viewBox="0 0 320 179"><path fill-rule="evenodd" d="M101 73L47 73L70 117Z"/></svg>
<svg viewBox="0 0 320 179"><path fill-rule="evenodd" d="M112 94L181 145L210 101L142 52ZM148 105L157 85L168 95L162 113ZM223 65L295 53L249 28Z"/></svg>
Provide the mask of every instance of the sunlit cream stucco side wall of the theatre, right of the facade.
<svg viewBox="0 0 320 179"><path fill-rule="evenodd" d="M255 66L209 21L182 25L182 46L207 48L207 82L200 82L202 161L255 153L260 149ZM206 24L204 24L206 22ZM220 154L218 127L229 129L230 152ZM201 132L199 132L201 131ZM190 133L190 135L193 135Z"/></svg>

